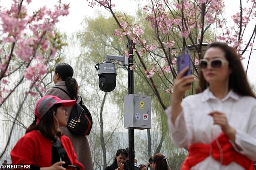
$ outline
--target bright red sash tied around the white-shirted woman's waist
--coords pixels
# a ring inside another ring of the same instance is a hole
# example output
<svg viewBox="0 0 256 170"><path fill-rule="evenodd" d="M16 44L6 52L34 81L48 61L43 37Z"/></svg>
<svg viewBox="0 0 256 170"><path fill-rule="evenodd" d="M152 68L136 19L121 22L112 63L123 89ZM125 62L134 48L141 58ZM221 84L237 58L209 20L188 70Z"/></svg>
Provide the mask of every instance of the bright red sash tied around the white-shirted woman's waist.
<svg viewBox="0 0 256 170"><path fill-rule="evenodd" d="M231 162L235 161L246 170L254 170L253 161L236 152L225 133L220 134L218 142L217 140L214 140L210 145L203 143L189 145L189 155L183 161L180 170L189 170L192 166L203 161L210 155L210 150L212 150L212 158L220 161L221 155L217 143L219 143L222 148L222 165L229 165Z"/></svg>

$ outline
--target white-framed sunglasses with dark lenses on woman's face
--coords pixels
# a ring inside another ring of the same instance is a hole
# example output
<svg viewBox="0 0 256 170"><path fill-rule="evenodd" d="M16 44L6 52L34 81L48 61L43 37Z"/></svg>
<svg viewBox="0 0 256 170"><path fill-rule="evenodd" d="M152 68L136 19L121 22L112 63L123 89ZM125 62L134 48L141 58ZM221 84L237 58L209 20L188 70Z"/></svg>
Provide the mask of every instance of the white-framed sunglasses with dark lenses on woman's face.
<svg viewBox="0 0 256 170"><path fill-rule="evenodd" d="M212 68L222 68L225 65L229 65L229 61L222 58L214 58L211 60L203 58L199 60L199 66L201 69L206 69L208 65L210 65Z"/></svg>

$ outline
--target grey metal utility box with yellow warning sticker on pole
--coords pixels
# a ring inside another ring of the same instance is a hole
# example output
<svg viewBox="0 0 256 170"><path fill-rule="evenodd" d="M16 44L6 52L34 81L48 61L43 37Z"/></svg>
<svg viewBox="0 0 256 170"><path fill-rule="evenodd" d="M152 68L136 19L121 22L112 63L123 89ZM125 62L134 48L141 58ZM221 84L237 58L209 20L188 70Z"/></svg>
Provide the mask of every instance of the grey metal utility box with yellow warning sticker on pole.
<svg viewBox="0 0 256 170"><path fill-rule="evenodd" d="M124 128L151 128L151 98L140 94L124 96Z"/></svg>

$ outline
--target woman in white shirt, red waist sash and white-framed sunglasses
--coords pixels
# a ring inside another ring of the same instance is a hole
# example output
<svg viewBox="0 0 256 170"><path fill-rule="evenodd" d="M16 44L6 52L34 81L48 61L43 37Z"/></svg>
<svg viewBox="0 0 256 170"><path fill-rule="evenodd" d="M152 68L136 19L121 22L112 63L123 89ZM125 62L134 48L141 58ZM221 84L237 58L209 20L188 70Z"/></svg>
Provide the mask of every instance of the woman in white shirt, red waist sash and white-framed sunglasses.
<svg viewBox="0 0 256 170"><path fill-rule="evenodd" d="M187 147L181 170L253 170L256 97L240 58L225 43L209 45L200 60L200 93L183 98L194 76L180 72L166 110L172 141Z"/></svg>

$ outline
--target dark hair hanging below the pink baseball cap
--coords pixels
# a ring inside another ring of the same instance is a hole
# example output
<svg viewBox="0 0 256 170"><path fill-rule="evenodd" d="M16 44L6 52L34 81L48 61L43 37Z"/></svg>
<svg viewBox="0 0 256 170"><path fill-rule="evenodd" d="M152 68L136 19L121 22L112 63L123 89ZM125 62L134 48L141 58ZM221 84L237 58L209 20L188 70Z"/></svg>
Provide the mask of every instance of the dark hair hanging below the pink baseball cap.
<svg viewBox="0 0 256 170"><path fill-rule="evenodd" d="M56 113L59 107L61 107L61 104L53 105L53 107L40 119L38 123L36 123L38 117L35 117L34 122L26 129L26 133L29 133L32 130L38 130L45 138L55 141L56 135L59 137L62 135L61 131L57 129L55 123L56 120L53 117L53 112Z"/></svg>

